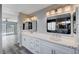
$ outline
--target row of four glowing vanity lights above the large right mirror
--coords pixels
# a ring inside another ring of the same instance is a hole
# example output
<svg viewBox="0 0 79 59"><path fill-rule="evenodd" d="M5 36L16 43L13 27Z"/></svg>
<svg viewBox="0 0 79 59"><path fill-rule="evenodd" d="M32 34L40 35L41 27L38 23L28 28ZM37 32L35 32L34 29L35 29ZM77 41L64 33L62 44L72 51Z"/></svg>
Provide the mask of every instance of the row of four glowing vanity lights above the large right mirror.
<svg viewBox="0 0 79 59"><path fill-rule="evenodd" d="M53 15L56 15L56 14L66 13L66 12L70 13L72 11L73 11L73 7L68 5L68 6L65 6L65 7L61 7L61 8L55 9L55 10L48 11L48 12L46 12L46 16L49 17L49 16L53 16Z"/></svg>

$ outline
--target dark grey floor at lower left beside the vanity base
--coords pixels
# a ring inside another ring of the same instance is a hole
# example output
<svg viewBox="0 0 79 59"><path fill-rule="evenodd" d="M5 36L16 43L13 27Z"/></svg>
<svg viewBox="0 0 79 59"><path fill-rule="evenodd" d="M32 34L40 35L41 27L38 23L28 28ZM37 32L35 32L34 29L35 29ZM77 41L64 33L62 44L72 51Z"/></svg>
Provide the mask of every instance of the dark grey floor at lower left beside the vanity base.
<svg viewBox="0 0 79 59"><path fill-rule="evenodd" d="M3 54L32 54L32 53L24 47L13 45L8 49L3 50Z"/></svg>

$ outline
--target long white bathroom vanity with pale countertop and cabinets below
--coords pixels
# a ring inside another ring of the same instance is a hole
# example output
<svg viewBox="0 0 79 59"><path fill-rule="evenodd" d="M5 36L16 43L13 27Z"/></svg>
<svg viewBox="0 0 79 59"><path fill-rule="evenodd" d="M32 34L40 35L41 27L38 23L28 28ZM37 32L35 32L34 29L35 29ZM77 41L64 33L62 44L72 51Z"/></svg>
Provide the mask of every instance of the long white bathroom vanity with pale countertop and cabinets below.
<svg viewBox="0 0 79 59"><path fill-rule="evenodd" d="M59 37L23 31L22 46L35 54L74 54L79 52L75 37Z"/></svg>

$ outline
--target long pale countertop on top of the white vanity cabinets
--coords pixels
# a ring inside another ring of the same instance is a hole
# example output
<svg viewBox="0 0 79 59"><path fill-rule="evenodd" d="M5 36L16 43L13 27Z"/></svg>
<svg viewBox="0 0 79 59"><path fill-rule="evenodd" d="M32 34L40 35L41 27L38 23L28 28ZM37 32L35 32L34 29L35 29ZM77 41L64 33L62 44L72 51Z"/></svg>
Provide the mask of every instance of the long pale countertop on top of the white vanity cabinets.
<svg viewBox="0 0 79 59"><path fill-rule="evenodd" d="M36 38L40 38L42 40L49 41L51 43L60 44L63 46L68 46L72 48L77 48L78 45L76 43L75 36L65 36L65 35L56 35L56 34L46 34L46 33L39 33L39 32L29 32L29 31L22 31L22 35L28 35Z"/></svg>

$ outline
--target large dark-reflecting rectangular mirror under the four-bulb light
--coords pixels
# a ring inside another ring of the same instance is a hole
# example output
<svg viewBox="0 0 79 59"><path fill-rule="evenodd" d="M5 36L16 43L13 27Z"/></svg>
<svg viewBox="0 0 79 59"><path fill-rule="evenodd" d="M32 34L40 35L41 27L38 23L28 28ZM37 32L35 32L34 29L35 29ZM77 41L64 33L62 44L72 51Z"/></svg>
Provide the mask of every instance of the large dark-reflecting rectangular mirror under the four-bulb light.
<svg viewBox="0 0 79 59"><path fill-rule="evenodd" d="M71 19L70 14L63 14L47 19L47 32L54 33L71 33Z"/></svg>

